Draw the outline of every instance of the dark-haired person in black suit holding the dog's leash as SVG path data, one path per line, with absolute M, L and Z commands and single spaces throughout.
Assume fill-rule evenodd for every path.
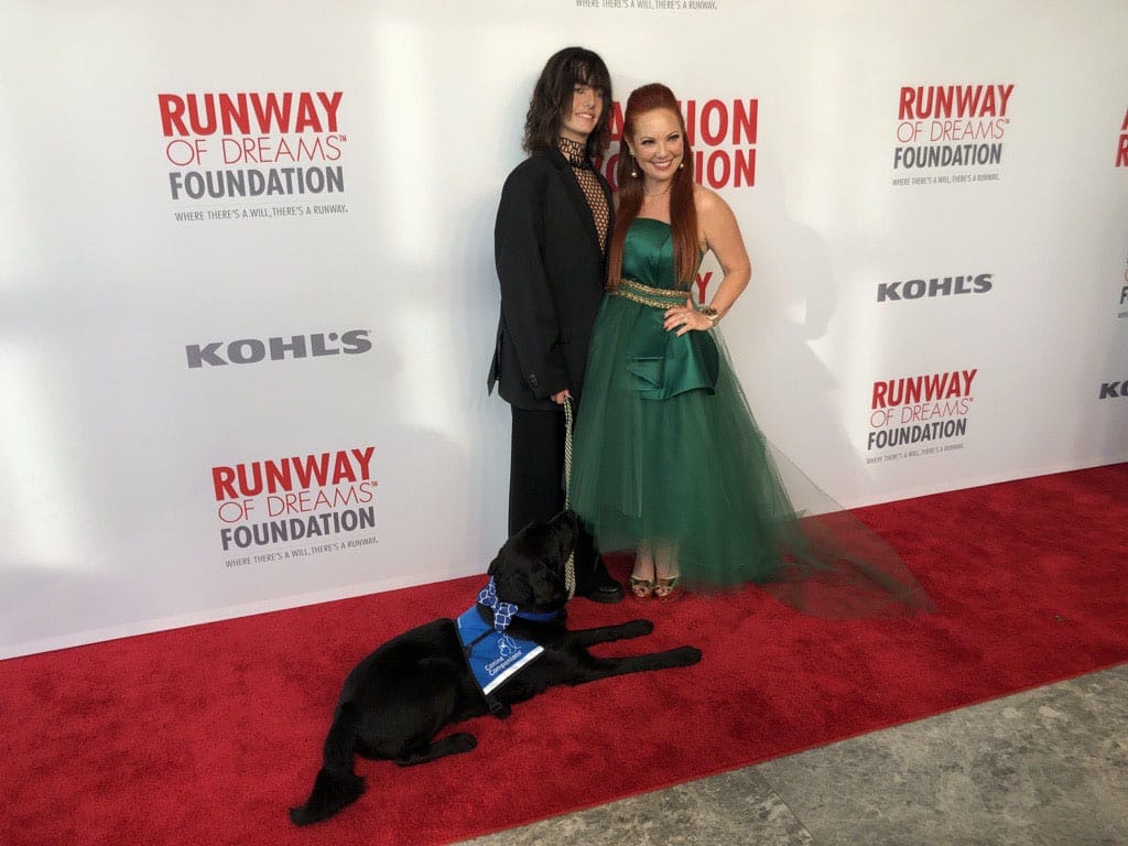
M 529 157 L 505 179 L 494 227 L 501 319 L 487 389 L 512 411 L 509 531 L 564 506 L 563 406 L 579 406 L 588 341 L 603 297 L 614 209 L 592 159 L 610 140 L 611 79 L 583 47 L 553 55 L 525 123 Z M 617 602 L 591 536 L 575 553 L 576 594 Z

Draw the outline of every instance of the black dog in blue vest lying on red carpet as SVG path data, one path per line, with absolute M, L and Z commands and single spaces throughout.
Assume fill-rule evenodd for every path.
M 654 625 L 637 619 L 569 631 L 564 566 L 576 532 L 571 511 L 549 522 L 530 523 L 499 550 L 490 564 L 491 583 L 467 614 L 457 622 L 437 619 L 405 632 L 356 664 L 341 691 L 312 793 L 306 804 L 290 809 L 296 825 L 332 817 L 364 792 L 363 779 L 353 773 L 354 755 L 409 766 L 468 752 L 477 744 L 473 734 L 460 732 L 439 741 L 435 734 L 444 725 L 491 711 L 506 717 L 511 705 L 555 685 L 688 667 L 700 660 L 700 651 L 693 646 L 628 658 L 596 658 L 588 652 L 597 643 L 650 634 Z M 487 682 L 482 684 L 470 656 L 479 642 L 491 641 L 499 653 L 478 659 L 477 671 L 486 668 Z M 499 668 L 509 671 L 514 666 L 520 669 L 500 686 L 488 681 Z

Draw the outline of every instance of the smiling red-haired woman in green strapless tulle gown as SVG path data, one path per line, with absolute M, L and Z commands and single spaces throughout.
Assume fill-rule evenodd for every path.
M 570 497 L 602 552 L 634 550 L 635 599 L 756 582 L 819 616 L 928 607 L 896 553 L 841 509 L 800 519 L 715 325 L 748 287 L 735 217 L 695 184 L 669 88 L 631 94 Z M 695 308 L 705 252 L 723 276 Z M 783 459 L 785 460 L 785 459 Z

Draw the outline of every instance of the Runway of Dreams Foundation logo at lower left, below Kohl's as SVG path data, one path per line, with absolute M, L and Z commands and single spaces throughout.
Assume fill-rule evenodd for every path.
M 229 567 L 374 544 L 374 447 L 211 468 L 219 544 Z M 353 535 L 341 539 L 338 536 Z

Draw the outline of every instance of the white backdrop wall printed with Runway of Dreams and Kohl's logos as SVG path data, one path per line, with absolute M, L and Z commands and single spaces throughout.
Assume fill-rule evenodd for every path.
M 1125 3 L 0 15 L 0 656 L 484 570 L 493 217 L 569 44 L 682 98 L 739 373 L 844 504 L 1128 459 Z

